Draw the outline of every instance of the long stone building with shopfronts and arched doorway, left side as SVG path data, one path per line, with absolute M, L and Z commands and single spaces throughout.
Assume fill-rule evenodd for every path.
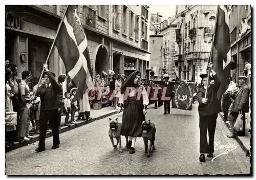
M 58 25 L 67 6 L 6 6 L 6 59 L 18 66 L 19 76 L 31 71 L 32 83 L 42 71 Z M 79 5 L 78 14 L 88 39 L 93 72 L 115 71 L 116 75 L 139 70 L 145 77 L 149 66 L 148 6 Z M 125 67 L 127 63 L 134 67 Z M 66 74 L 56 47 L 49 58 L 49 69 Z

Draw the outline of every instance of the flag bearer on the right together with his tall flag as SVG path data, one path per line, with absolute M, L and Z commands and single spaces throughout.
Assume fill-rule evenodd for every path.
M 216 119 L 218 113 L 221 111 L 220 100 L 229 84 L 231 61 L 229 36 L 228 8 L 227 6 L 218 5 L 213 38 L 214 42 L 211 46 L 207 68 L 208 74 L 200 76 L 203 80 L 204 87 L 198 92 L 198 111 L 200 117 L 199 160 L 201 162 L 205 161 L 205 153 L 208 153 L 208 158 L 212 158 L 214 153 Z M 209 76 L 210 71 L 213 75 L 212 77 Z M 209 134 L 209 143 L 207 143 L 207 130 Z

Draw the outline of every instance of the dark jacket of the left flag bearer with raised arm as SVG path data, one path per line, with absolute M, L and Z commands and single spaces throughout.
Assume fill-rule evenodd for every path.
M 54 110 L 59 108 L 59 96 L 62 92 L 61 85 L 54 79 L 50 71 L 46 72 L 51 86 L 46 88 L 45 85 L 38 87 L 36 96 L 40 96 L 41 110 Z

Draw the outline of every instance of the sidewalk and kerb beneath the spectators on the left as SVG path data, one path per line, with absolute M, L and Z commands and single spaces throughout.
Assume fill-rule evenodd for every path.
M 112 116 L 116 113 L 117 113 L 117 109 L 115 109 L 115 107 L 103 107 L 102 109 L 91 109 L 91 115 L 90 115 L 90 117 L 92 118 L 91 121 L 77 120 L 78 124 L 72 124 L 71 127 L 63 126 L 64 123 L 65 123 L 66 116 L 62 116 L 61 117 L 62 127 L 61 127 L 61 129 L 59 129 L 59 133 L 75 129 L 76 127 L 80 127 L 82 125 L 91 123 L 93 121 L 100 120 L 100 119 L 106 118 L 108 116 Z M 75 119 L 77 119 L 77 117 L 78 117 L 78 112 L 75 114 Z M 71 117 L 69 118 L 69 122 L 70 122 L 70 120 L 71 120 Z M 30 123 L 30 130 L 31 129 L 32 129 L 32 124 Z M 46 132 L 46 138 L 49 138 L 51 136 L 52 136 L 52 132 Z M 30 141 L 15 142 L 8 149 L 6 149 L 6 151 L 14 150 L 14 149 L 17 149 L 19 147 L 23 147 L 23 146 L 35 143 L 37 141 L 39 141 L 39 134 L 34 133 L 33 134 L 33 139 L 31 139 Z

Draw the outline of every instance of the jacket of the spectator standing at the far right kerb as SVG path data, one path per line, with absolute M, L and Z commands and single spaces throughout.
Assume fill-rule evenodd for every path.
M 233 111 L 238 113 L 239 110 L 242 113 L 249 112 L 249 94 L 250 88 L 247 84 L 243 84 L 234 99 Z

